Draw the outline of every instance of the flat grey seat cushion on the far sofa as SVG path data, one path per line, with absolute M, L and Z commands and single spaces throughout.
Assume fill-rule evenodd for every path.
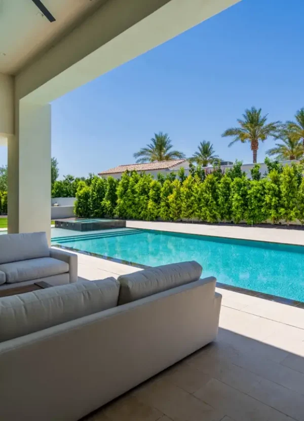
M 12 284 L 24 280 L 44 278 L 68 272 L 68 263 L 52 257 L 21 260 L 19 262 L 0 265 L 0 270 L 6 274 L 6 282 Z

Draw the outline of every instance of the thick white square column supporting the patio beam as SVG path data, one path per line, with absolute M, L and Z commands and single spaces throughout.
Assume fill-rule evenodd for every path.
M 8 143 L 8 229 L 46 231 L 50 240 L 51 106 L 18 102 Z

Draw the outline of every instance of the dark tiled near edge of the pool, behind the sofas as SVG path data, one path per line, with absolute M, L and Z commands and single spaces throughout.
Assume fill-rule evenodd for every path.
M 101 255 L 101 254 L 98 254 L 98 253 L 92 253 L 92 252 L 86 252 L 84 250 L 73 249 L 72 247 L 66 247 L 65 245 L 61 245 L 61 244 L 53 244 L 52 247 L 57 247 L 59 249 L 68 250 L 70 252 L 80 253 L 80 254 L 84 254 L 84 255 L 87 255 L 87 256 L 97 257 L 99 259 L 108 260 L 108 261 L 111 261 L 111 262 L 120 263 L 120 264 L 127 265 L 127 266 L 137 267 L 139 269 L 149 269 L 150 267 L 152 267 L 152 266 L 142 265 L 140 263 L 129 262 L 128 260 L 118 259 L 116 257 L 104 256 L 104 255 Z M 291 307 L 297 307 L 297 308 L 304 309 L 304 302 L 303 301 L 297 301 L 297 300 L 292 300 L 291 298 L 284 298 L 284 297 L 280 297 L 280 296 L 276 296 L 276 295 L 266 294 L 266 293 L 263 293 L 263 292 L 248 290 L 246 288 L 235 287 L 233 285 L 223 284 L 223 283 L 217 282 L 217 281 L 216 281 L 216 287 L 221 288 L 223 290 L 229 290 L 229 291 L 237 292 L 237 293 L 240 293 L 240 294 L 250 295 L 250 296 L 255 297 L 255 298 L 262 298 L 263 300 L 273 301 L 273 302 L 277 302 L 277 303 L 280 303 L 280 304 L 286 304 L 286 305 L 289 305 Z

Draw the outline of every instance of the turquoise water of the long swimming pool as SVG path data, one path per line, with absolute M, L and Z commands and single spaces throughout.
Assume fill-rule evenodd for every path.
M 136 229 L 53 242 L 147 266 L 196 260 L 223 284 L 304 301 L 301 246 Z

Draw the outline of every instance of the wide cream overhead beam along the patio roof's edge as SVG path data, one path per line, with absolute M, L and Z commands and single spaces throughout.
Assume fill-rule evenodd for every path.
M 239 1 L 109 0 L 17 75 L 17 97 L 53 101 Z

